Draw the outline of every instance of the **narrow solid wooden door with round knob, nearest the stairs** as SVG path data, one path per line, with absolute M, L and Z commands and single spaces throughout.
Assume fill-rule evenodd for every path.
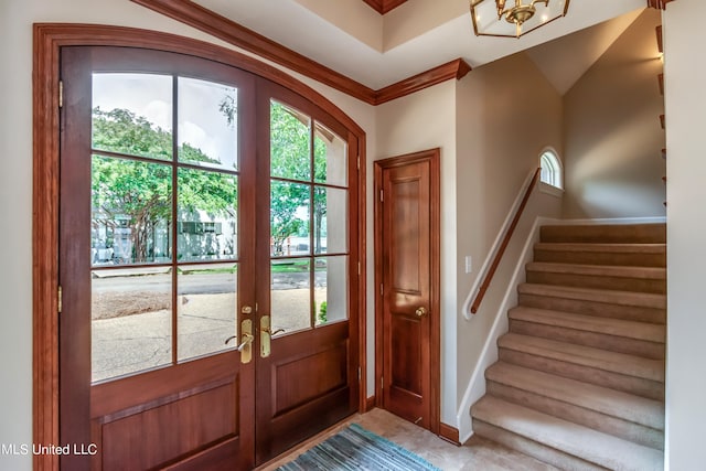
M 439 431 L 439 152 L 376 163 L 382 407 Z

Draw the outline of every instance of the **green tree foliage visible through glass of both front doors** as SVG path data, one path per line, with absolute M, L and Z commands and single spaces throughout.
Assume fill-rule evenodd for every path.
M 229 98 L 229 99 L 228 99 Z M 236 109 L 232 97 L 218 106 L 235 122 Z M 312 182 L 325 181 L 327 146 L 315 136 L 313 169 L 311 161 L 311 121 L 278 103 L 270 107 L 270 227 L 277 250 L 293 235 L 309 235 L 313 216 L 314 253 L 321 251 L 322 222 L 327 212 L 325 189 Z M 160 224 L 169 224 L 172 211 L 173 135 L 142 116 L 127 109 L 93 110 L 93 147 L 95 149 L 156 159 L 153 162 L 132 161 L 96 156 L 93 159 L 93 207 L 100 214 L 101 224 L 116 224 L 127 218 L 131 227 L 132 257 L 147 261 L 151 234 Z M 176 149 L 180 161 L 217 163 L 201 149 L 183 143 Z M 312 179 L 312 171 L 314 172 Z M 293 182 L 292 182 L 293 181 Z M 301 183 L 295 183 L 301 182 Z M 180 169 L 176 175 L 179 216 L 196 210 L 211 217 L 229 214 L 237 207 L 235 176 L 213 171 Z M 312 201 L 313 200 L 313 201 Z M 302 217 L 302 210 L 308 216 Z M 96 222 L 94 222 L 96 224 Z

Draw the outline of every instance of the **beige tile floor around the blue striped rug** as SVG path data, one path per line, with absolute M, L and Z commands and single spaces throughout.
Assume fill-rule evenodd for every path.
M 556 470 L 556 468 L 481 437 L 472 437 L 466 445 L 457 447 L 386 410 L 373 409 L 364 415 L 356 414 L 347 420 L 331 427 L 289 453 L 282 454 L 258 468 L 258 471 L 271 471 L 293 460 L 309 448 L 335 435 L 352 422 L 360 424 L 367 430 L 405 447 L 445 471 Z

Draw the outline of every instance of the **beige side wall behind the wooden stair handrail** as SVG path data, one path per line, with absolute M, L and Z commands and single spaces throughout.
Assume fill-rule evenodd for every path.
M 531 93 L 527 93 L 531 90 Z M 463 300 L 542 150 L 561 142 L 561 97 L 524 54 L 475 68 L 457 90 L 458 288 Z M 547 207 L 558 216 L 558 206 Z M 517 240 L 517 238 L 515 238 Z M 473 271 L 464 272 L 470 255 Z M 513 256 L 514 255 L 514 256 Z M 517 251 L 504 257 L 488 297 L 471 321 L 459 317 L 458 397 L 462 397 L 479 361 L 496 307 L 505 291 L 503 279 L 514 268 Z M 459 308 L 461 302 L 459 302 Z M 466 410 L 461 410 L 466 414 Z

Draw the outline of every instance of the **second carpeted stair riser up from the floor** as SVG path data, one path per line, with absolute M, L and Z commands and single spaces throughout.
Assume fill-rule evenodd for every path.
M 609 416 L 579 405 L 564 403 L 493 381 L 488 382 L 486 394 L 605 433 L 644 445 L 645 447 L 659 450 L 664 449 L 664 433 L 661 430 L 635 424 L 621 417 Z

